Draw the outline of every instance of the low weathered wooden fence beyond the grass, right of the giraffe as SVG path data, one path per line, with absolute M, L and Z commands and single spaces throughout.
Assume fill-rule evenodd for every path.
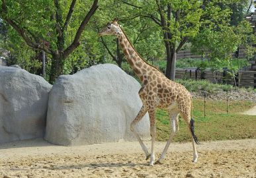
M 253 87 L 256 88 L 256 71 L 239 71 L 237 75 L 235 75 L 235 81 L 228 71 L 224 69 L 222 72 L 214 73 L 210 69 L 206 69 L 205 71 L 200 71 L 196 68 L 190 69 L 176 69 L 175 78 L 178 79 L 194 79 L 194 80 L 208 80 L 213 83 L 218 84 L 232 84 L 243 87 Z

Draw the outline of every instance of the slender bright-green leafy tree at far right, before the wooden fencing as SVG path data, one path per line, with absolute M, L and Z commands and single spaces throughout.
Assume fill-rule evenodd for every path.
M 247 48 L 248 55 L 253 53 L 250 45 L 255 42 L 255 36 L 250 24 L 244 19 L 248 6 L 251 5 L 246 1 L 218 3 L 218 9 L 226 11 L 226 20 L 216 24 L 206 21 L 200 27 L 198 36 L 191 39 L 192 51 L 209 58 L 212 73 L 222 71 L 224 64 L 234 78 L 234 83 L 239 66 L 232 65 L 232 53 L 240 45 Z

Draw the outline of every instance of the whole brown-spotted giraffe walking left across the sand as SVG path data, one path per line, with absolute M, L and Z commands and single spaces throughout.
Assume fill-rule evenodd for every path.
M 135 134 L 138 142 L 140 142 L 142 150 L 146 154 L 146 160 L 150 158 L 149 165 L 161 163 L 163 158 L 165 158 L 169 144 L 179 129 L 179 114 L 183 117 L 185 123 L 187 123 L 189 132 L 191 133 L 193 162 L 196 162 L 198 154 L 196 152 L 195 143 L 198 144 L 198 140 L 194 134 L 194 120 L 191 117 L 192 97 L 190 92 L 183 85 L 169 80 L 163 73 L 161 73 L 161 71 L 144 61 L 134 49 L 122 28 L 118 25 L 116 18 L 112 22 L 108 22 L 105 28 L 99 32 L 99 36 L 105 35 L 114 35 L 118 38 L 118 42 L 128 63 L 132 67 L 134 73 L 142 81 L 142 88 L 140 88 L 138 92 L 140 99 L 142 100 L 142 108 L 136 118 L 132 121 L 130 129 Z M 157 107 L 167 108 L 170 116 L 171 133 L 160 158 L 155 162 L 155 110 Z M 136 124 L 147 112 L 149 113 L 150 122 L 151 154 L 149 154 L 148 148 L 146 148 L 135 129 Z

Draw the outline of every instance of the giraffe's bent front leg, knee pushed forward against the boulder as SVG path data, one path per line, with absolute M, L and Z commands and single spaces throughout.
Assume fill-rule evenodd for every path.
M 146 107 L 144 105 L 142 105 L 142 108 L 140 109 L 138 115 L 136 116 L 134 121 L 132 121 L 132 123 L 130 125 L 130 129 L 131 129 L 132 133 L 135 134 L 138 142 L 140 142 L 140 146 L 142 146 L 142 150 L 146 154 L 146 160 L 148 160 L 150 154 L 148 153 L 148 148 L 145 146 L 144 142 L 142 142 L 142 139 L 140 138 L 138 132 L 136 131 L 135 126 L 142 119 L 142 117 L 147 113 L 147 111 L 148 111 L 148 109 L 146 109 Z

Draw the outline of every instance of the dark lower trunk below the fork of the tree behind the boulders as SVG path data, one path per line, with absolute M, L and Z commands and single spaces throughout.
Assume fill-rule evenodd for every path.
M 58 76 L 63 73 L 64 69 L 64 56 L 52 55 L 52 66 L 50 72 L 50 84 L 53 84 Z

